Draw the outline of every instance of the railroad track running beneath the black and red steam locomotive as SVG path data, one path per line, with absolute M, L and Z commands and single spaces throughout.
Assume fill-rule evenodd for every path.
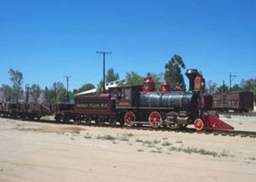
M 19 120 L 19 119 L 18 119 Z M 28 121 L 29 122 L 29 121 Z M 56 122 L 54 120 L 34 120 L 31 122 L 38 122 L 38 123 L 47 123 L 47 124 L 69 124 L 72 125 L 74 123 L 63 123 L 63 122 Z M 108 124 L 105 125 L 98 125 L 98 124 L 79 124 L 82 126 L 88 126 L 92 128 L 112 128 L 112 129 L 125 129 L 125 130 L 144 130 L 144 131 L 161 131 L 161 132 L 170 132 L 170 133 L 187 133 L 187 134 L 212 134 L 213 136 L 222 135 L 222 136 L 240 136 L 240 137 L 248 137 L 248 138 L 256 138 L 256 132 L 253 131 L 242 131 L 242 130 L 222 130 L 222 129 L 215 129 L 215 130 L 202 130 L 197 131 L 197 129 L 190 129 L 190 128 L 184 128 L 184 129 L 170 129 L 167 127 L 161 127 L 159 129 L 153 129 L 151 126 L 121 126 L 120 124 L 117 124 L 115 126 L 111 126 Z

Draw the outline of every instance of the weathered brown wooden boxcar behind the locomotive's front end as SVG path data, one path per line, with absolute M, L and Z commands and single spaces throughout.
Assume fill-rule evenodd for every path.
M 202 108 L 222 112 L 233 110 L 236 113 L 248 113 L 249 110 L 253 110 L 253 93 L 230 92 L 205 95 L 202 97 Z

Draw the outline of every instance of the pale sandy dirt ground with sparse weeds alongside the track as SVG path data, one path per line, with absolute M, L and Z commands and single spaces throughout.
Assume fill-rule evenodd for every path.
M 256 181 L 255 138 L 0 119 L 0 144 L 1 182 Z

